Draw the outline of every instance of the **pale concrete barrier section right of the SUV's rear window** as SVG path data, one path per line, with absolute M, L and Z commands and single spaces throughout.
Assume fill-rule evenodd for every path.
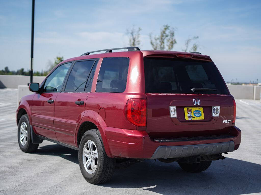
M 228 89 L 235 99 L 251 99 L 254 97 L 253 85 L 232 85 L 228 84 Z

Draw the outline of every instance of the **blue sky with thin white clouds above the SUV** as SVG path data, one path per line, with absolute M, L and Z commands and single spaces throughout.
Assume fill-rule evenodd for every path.
M 0 7 L 0 69 L 29 69 L 32 1 L 2 0 Z M 133 25 L 142 29 L 140 49 L 151 50 L 149 34 L 168 24 L 175 29 L 173 50 L 199 36 L 198 51 L 211 57 L 225 81 L 260 82 L 260 8 L 261 1 L 237 0 L 35 0 L 33 69 L 47 69 L 57 55 L 128 47 Z

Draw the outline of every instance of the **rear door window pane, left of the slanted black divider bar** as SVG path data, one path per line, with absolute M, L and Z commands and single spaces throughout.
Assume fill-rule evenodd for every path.
M 94 60 L 75 62 L 68 77 L 65 91 L 84 91 Z

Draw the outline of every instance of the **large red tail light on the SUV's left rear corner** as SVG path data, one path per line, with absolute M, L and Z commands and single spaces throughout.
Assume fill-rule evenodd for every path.
M 129 99 L 126 105 L 126 118 L 136 126 L 145 127 L 147 118 L 146 99 Z

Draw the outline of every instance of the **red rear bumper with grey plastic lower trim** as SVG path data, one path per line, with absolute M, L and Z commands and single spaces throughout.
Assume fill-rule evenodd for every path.
M 218 154 L 238 149 L 241 131 L 233 126 L 229 138 L 157 142 L 146 131 L 98 126 L 105 135 L 104 145 L 109 157 L 122 158 L 178 158 L 194 155 Z

